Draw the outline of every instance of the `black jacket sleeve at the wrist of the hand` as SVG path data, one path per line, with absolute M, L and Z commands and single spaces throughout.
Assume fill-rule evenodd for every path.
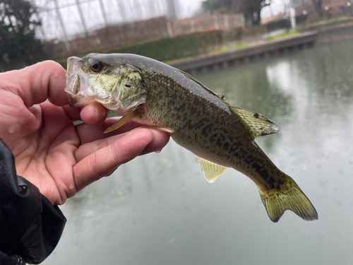
M 40 264 L 52 253 L 66 218 L 35 185 L 16 175 L 0 139 L 0 264 Z

